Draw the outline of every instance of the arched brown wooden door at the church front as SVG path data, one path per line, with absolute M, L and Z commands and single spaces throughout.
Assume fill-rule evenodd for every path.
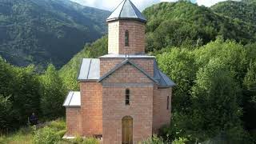
M 133 118 L 122 118 L 122 144 L 133 144 Z

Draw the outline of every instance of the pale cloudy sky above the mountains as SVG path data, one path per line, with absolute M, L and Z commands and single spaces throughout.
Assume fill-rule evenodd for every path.
M 78 2 L 84 6 L 91 6 L 91 7 L 97 7 L 99 9 L 103 10 L 114 10 L 116 6 L 122 0 L 71 0 L 74 2 Z M 175 2 L 177 0 L 131 0 L 135 6 L 138 7 L 139 10 L 144 10 L 147 6 L 151 6 L 154 3 L 158 2 Z M 204 6 L 212 6 L 217 2 L 222 2 L 226 0 L 190 0 L 191 2 L 197 2 L 198 5 L 204 5 Z

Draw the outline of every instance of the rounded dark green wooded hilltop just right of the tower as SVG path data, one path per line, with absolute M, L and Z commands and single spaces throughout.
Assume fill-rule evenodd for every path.
M 255 27 L 246 22 L 234 22 L 205 6 L 191 2 L 162 2 L 143 11 L 148 50 L 166 46 L 202 46 L 218 35 L 243 44 L 252 42 Z

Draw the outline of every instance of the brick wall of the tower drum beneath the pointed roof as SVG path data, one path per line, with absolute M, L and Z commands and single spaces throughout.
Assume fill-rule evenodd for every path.
M 145 24 L 137 21 L 120 20 L 109 22 L 109 54 L 144 54 Z M 129 31 L 129 46 L 125 46 L 125 32 Z

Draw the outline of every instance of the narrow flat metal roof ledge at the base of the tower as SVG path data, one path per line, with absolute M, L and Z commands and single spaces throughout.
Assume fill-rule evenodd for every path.
M 146 54 L 106 54 L 99 58 L 155 58 Z

